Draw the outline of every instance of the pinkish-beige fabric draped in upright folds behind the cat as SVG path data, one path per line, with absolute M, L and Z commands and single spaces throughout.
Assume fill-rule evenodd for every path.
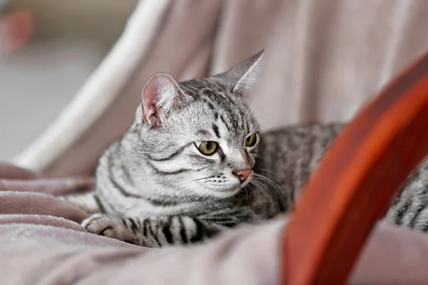
M 156 1 L 141 1 L 140 9 Z M 265 67 L 250 96 L 258 99 L 255 115 L 268 130 L 310 120 L 347 121 L 397 71 L 428 50 L 424 0 L 156 3 L 161 2 L 164 6 L 156 8 L 159 16 L 148 25 L 154 31 L 150 43 L 135 58 L 122 55 L 123 64 L 132 62 L 126 71 L 121 71 L 120 62 L 105 71 L 110 78 L 128 73 L 99 115 L 77 135 L 62 130 L 68 141 L 56 155 L 49 156 L 58 138 L 64 137 L 51 139 L 55 132 L 41 135 L 44 140 L 39 142 L 50 146 L 29 146 L 16 158 L 18 165 L 56 176 L 93 172 L 103 149 L 131 124 L 141 88 L 156 72 L 178 80 L 207 76 L 265 48 Z M 131 21 L 138 21 L 143 14 L 138 13 Z M 128 24 L 126 31 L 130 28 Z M 118 45 L 121 41 L 125 40 Z M 61 121 L 56 123 L 61 126 Z

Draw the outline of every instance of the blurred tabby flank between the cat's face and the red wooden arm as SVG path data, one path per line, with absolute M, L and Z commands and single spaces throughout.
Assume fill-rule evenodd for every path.
M 341 128 L 338 123 L 307 123 L 262 133 L 255 172 L 275 182 L 280 199 L 292 203 Z

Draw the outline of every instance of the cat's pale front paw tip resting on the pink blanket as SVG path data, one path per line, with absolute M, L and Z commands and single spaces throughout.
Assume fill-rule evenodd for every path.
M 98 234 L 123 242 L 132 242 L 132 232 L 118 217 L 108 217 L 105 214 L 93 214 L 82 222 L 82 227 L 92 234 Z

